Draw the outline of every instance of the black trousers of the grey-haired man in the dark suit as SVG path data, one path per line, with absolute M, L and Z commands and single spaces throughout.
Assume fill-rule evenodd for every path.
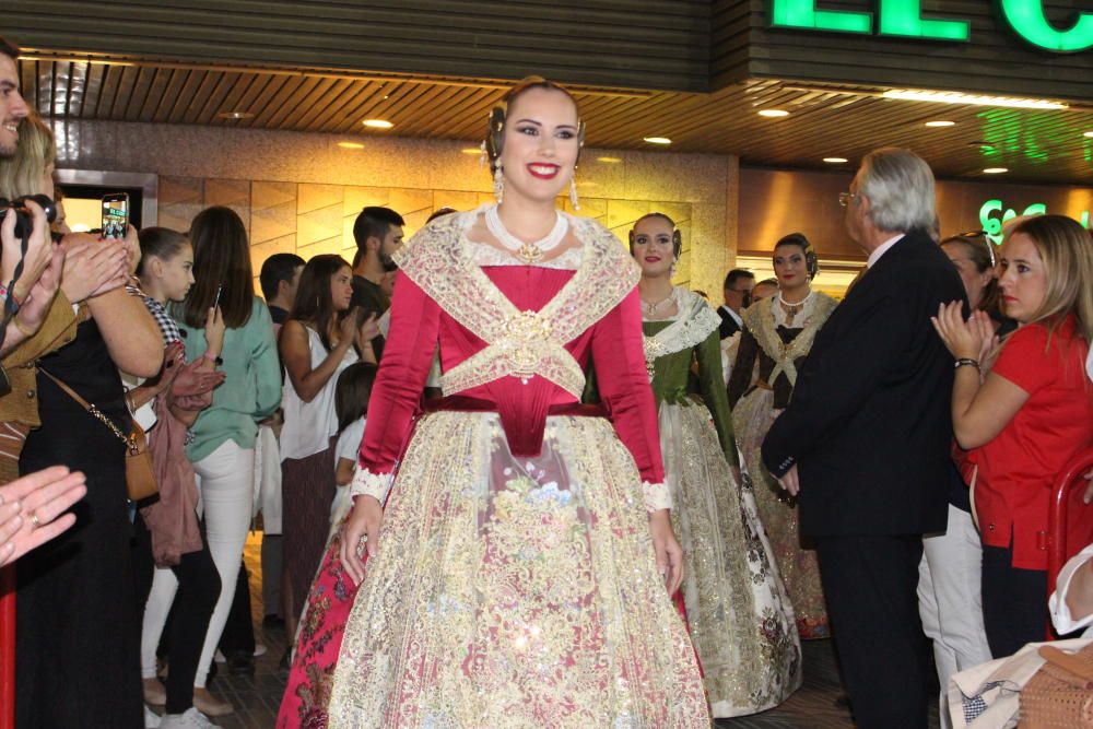
M 839 668 L 860 729 L 925 729 L 929 648 L 921 534 L 816 537 Z

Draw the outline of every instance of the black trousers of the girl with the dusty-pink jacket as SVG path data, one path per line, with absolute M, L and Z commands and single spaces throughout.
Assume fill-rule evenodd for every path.
M 141 622 L 144 603 L 152 590 L 152 534 L 144 520 L 137 515 L 133 525 L 133 561 L 140 562 L 136 568 L 137 598 Z M 178 579 L 178 591 L 171 609 L 166 625 L 167 644 L 171 646 L 171 670 L 167 672 L 167 714 L 183 714 L 193 705 L 193 679 L 201 660 L 209 619 L 220 598 L 220 573 L 209 554 L 201 533 L 201 551 L 184 554 L 178 564 L 171 568 Z

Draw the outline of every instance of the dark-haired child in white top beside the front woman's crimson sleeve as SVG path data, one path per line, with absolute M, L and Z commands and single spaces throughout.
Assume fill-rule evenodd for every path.
M 364 439 L 364 423 L 368 412 L 372 384 L 379 371 L 374 364 L 359 362 L 350 365 L 338 378 L 334 390 L 334 413 L 338 415 L 338 445 L 334 447 L 334 483 L 338 493 L 330 505 L 331 533 L 349 513 L 353 502 L 349 484 L 356 472 L 356 454 Z

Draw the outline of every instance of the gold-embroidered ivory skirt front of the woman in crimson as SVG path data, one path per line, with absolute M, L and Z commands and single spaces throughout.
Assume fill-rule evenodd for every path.
M 342 642 L 329 726 L 706 729 L 640 479 L 600 418 L 509 454 L 494 413 L 418 424 Z

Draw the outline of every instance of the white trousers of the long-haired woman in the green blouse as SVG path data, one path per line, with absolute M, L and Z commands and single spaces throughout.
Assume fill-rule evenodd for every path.
M 193 685 L 203 689 L 216 645 L 227 623 L 227 613 L 232 610 L 235 584 L 239 579 L 243 546 L 247 542 L 254 504 L 255 451 L 252 448 L 240 448 L 234 440 L 226 440 L 195 463 L 193 471 L 201 495 L 198 510 L 204 515 L 205 540 L 220 573 L 221 585 L 220 599 L 209 619 L 209 632 L 205 633 L 201 661 L 193 679 Z

